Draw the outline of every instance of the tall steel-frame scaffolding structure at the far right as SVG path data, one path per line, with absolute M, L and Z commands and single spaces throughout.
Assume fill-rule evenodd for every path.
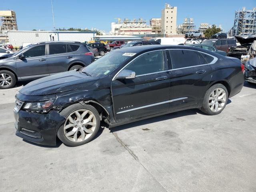
M 253 10 L 242 10 L 235 12 L 232 36 L 256 34 L 256 7 Z

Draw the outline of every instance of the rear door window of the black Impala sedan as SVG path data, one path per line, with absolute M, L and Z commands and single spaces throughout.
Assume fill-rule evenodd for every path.
M 198 52 L 190 50 L 170 50 L 172 68 L 185 68 L 200 65 Z

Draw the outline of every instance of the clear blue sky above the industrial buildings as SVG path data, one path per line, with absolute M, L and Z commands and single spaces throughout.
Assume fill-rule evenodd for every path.
M 110 31 L 114 18 L 161 18 L 164 4 L 177 6 L 177 25 L 185 17 L 200 23 L 221 25 L 228 32 L 235 10 L 252 10 L 256 0 L 52 0 L 56 28 L 98 28 Z M 188 2 L 188 3 L 186 3 Z M 191 3 L 192 2 L 192 3 Z M 207 3 L 209 2 L 209 3 Z M 212 2 L 212 3 L 210 3 Z M 16 12 L 18 30 L 53 30 L 51 0 L 0 0 L 0 10 Z

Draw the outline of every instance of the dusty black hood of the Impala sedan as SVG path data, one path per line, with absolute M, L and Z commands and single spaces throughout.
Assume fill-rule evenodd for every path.
M 40 78 L 24 86 L 20 93 L 29 96 L 55 94 L 70 90 L 84 90 L 99 77 L 87 76 L 78 71 L 68 71 Z

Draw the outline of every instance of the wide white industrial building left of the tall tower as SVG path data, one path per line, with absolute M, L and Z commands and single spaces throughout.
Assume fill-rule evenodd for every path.
M 125 18 L 118 19 L 118 22 L 111 23 L 112 35 L 135 35 L 135 34 L 149 34 L 152 32 L 152 28 L 146 24 L 146 20 L 142 18 L 130 20 Z

